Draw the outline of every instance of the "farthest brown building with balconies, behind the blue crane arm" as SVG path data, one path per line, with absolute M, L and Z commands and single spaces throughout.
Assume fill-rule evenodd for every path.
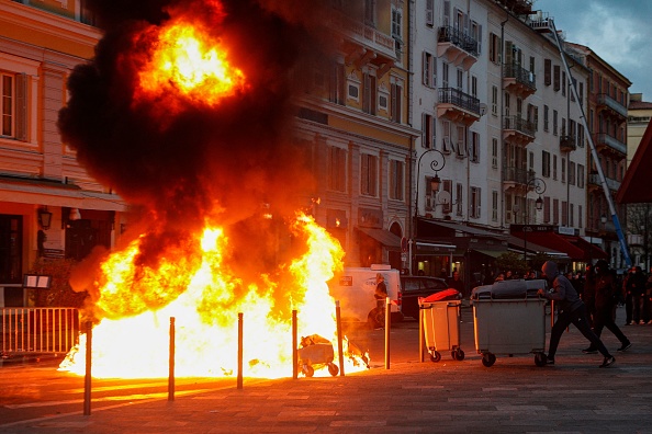
M 621 227 L 627 228 L 627 207 L 616 204 L 616 193 L 627 169 L 628 155 L 628 105 L 631 82 L 612 66 L 602 59 L 593 49 L 580 44 L 567 44 L 569 52 L 591 71 L 588 81 L 588 104 L 586 119 L 592 132 L 593 142 L 598 155 L 595 161 L 587 148 L 586 164 L 588 170 L 588 191 L 586 195 L 586 235 L 599 239 L 602 248 L 609 253 L 611 266 L 626 266 L 620 254 L 620 244 L 616 227 L 610 222 L 611 213 L 605 185 L 615 203 Z M 604 183 L 598 175 L 596 164 L 604 173 Z M 607 225 L 602 225 L 602 216 L 608 216 Z

